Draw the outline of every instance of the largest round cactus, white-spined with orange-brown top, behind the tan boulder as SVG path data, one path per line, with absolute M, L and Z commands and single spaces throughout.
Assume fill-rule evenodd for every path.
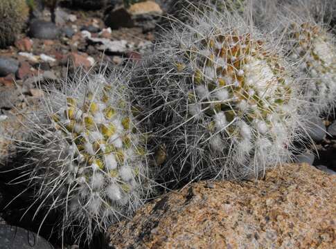
M 227 11 L 191 20 L 175 24 L 135 85 L 166 154 L 163 180 L 256 177 L 290 161 L 301 96 L 281 48 Z

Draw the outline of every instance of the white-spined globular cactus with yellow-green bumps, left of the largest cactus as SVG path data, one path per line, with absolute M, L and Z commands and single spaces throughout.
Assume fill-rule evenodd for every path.
M 132 115 L 128 76 L 75 77 L 46 89 L 23 143 L 39 208 L 63 214 L 62 230 L 89 241 L 130 216 L 150 192 L 146 136 Z

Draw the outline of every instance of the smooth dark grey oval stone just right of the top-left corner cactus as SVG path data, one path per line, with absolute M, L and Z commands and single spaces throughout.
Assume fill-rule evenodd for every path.
M 60 30 L 50 21 L 35 19 L 30 23 L 28 35 L 38 39 L 58 39 Z

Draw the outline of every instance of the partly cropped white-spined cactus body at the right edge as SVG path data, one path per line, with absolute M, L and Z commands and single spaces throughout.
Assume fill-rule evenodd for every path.
M 324 28 L 309 22 L 292 24 L 288 46 L 294 62 L 308 75 L 306 95 L 318 112 L 328 113 L 336 100 L 336 49 Z

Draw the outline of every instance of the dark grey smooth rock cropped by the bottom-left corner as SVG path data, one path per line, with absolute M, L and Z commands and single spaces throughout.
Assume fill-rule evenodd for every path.
M 34 232 L 12 225 L 0 225 L 2 249 L 52 249 L 51 243 Z

